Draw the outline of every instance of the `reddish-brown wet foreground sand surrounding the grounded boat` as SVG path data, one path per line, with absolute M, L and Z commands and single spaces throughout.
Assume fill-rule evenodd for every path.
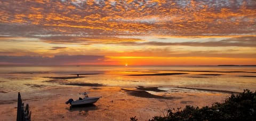
M 129 120 L 134 116 L 139 120 L 148 120 L 153 116 L 163 115 L 168 109 L 185 107 L 188 103 L 199 107 L 211 106 L 213 102 L 220 102 L 227 96 L 211 93 L 173 93 L 171 98 L 163 98 L 148 95 L 145 91 L 122 90 L 120 87 L 101 87 L 101 90 L 90 88 L 47 87 L 40 93 L 21 92 L 21 98 L 25 103 L 29 103 L 32 120 Z M 78 93 L 89 90 L 89 96 L 102 96 L 93 106 L 70 108 L 65 104 L 70 98 L 78 99 L 81 96 Z M 2 120 L 16 119 L 16 98 L 10 96 L 9 100 L 0 103 Z

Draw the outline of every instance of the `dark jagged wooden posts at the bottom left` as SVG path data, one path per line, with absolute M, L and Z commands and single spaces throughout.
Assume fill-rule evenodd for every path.
M 24 103 L 22 103 L 20 92 L 18 93 L 18 107 L 17 107 L 17 121 L 30 121 L 31 111 L 29 111 L 29 105 L 26 104 L 24 109 Z

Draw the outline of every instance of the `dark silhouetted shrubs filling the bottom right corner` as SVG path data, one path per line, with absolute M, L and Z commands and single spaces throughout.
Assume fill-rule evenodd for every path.
M 225 102 L 214 103 L 211 107 L 186 106 L 183 110 L 168 110 L 167 116 L 149 119 L 156 120 L 256 120 L 256 91 L 231 94 Z

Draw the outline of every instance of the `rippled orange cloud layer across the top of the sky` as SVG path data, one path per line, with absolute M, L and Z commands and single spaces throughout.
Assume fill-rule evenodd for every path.
M 254 35 L 253 5 L 250 1 L 2 1 L 0 20 L 92 35 Z

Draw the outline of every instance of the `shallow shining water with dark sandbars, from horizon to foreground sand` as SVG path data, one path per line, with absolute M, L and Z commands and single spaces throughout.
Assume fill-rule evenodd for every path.
M 82 78 L 75 78 L 76 74 Z M 256 67 L 250 66 L 0 66 L 0 94 L 40 91 L 47 86 L 159 87 L 166 94 L 255 91 L 255 74 Z

